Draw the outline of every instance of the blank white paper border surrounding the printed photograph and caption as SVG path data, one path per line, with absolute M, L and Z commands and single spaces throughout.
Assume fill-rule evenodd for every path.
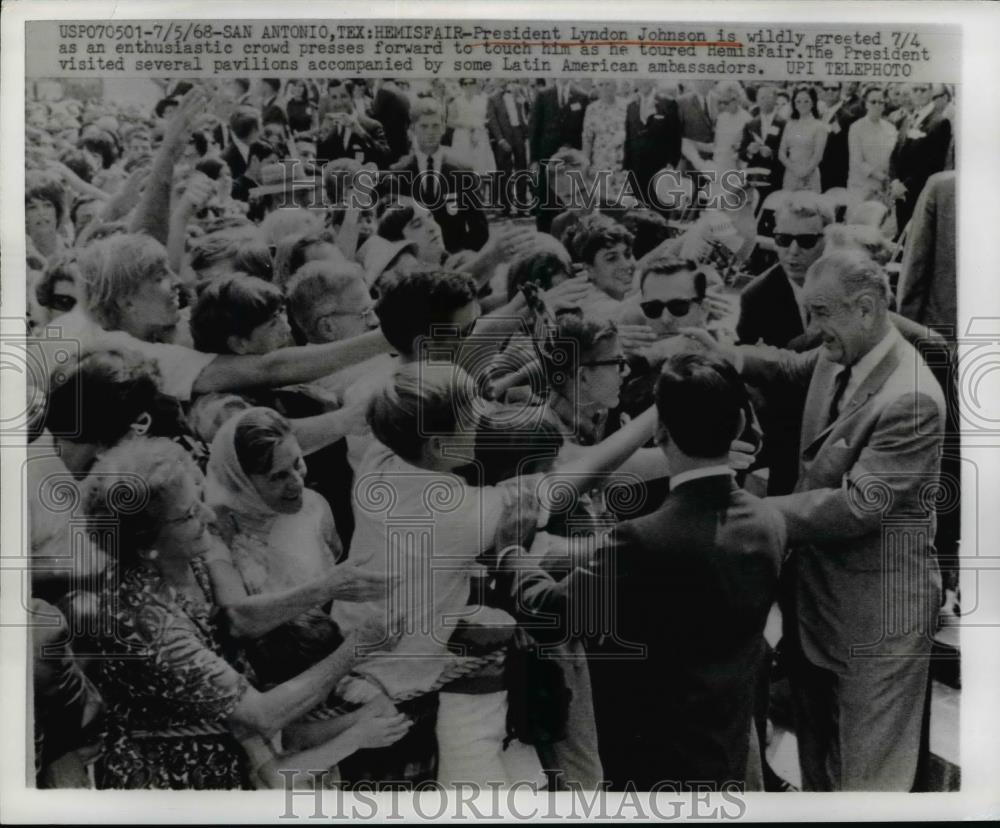
M 280 17 L 276 15 L 280 12 Z M 1000 365 L 1000 6 L 963 2 L 749 2 L 697 3 L 630 2 L 584 4 L 579 0 L 547 0 L 542 3 L 507 2 L 8 2 L 4 3 L 0 29 L 0 193 L 3 194 L 3 224 L 0 227 L 2 259 L 2 315 L 23 315 L 24 310 L 24 188 L 23 112 L 24 40 L 26 19 L 502 19 L 512 20 L 620 20 L 754 21 L 794 24 L 836 21 L 839 26 L 858 23 L 958 24 L 963 29 L 962 88 L 959 100 L 961 155 L 959 175 L 960 304 L 961 327 L 973 316 L 994 320 L 993 361 Z M 987 372 L 980 393 L 981 404 L 1000 422 L 1000 384 L 995 371 Z M 5 416 L 23 399 L 23 380 L 3 372 L 0 406 Z M 979 552 L 996 557 L 1000 540 L 1000 464 L 996 446 L 968 445 L 965 455 L 978 467 L 979 514 L 966 512 L 963 536 L 977 537 Z M 5 555 L 16 549 L 21 538 L 21 465 L 23 452 L 4 448 L 0 475 L 0 514 Z M 971 483 L 971 480 L 967 480 Z M 970 554 L 966 550 L 966 554 Z M 3 617 L 16 613 L 20 584 L 10 570 L 0 570 L 0 608 Z M 974 585 L 966 579 L 964 590 Z M 1000 570 L 980 579 L 979 597 L 984 619 L 991 626 L 962 630 L 962 792 L 960 794 L 827 794 L 749 795 L 746 818 L 788 819 L 996 819 L 1000 817 Z M 25 739 L 25 651 L 24 629 L 0 628 L 0 822 L 224 822 L 277 821 L 284 810 L 281 792 L 258 793 L 163 793 L 35 791 L 24 790 Z M 545 813 L 542 805 L 541 814 Z M 524 809 L 530 810 L 526 804 Z M 432 809 L 433 810 L 433 809 Z M 522 809 L 523 810 L 523 809 Z M 297 800 L 299 814 L 311 813 L 306 800 Z M 330 806 L 327 807 L 327 812 Z M 626 809 L 627 816 L 632 811 Z M 359 816 L 365 815 L 362 809 Z M 404 814 L 405 815 L 405 814 Z M 381 815 L 382 821 L 385 814 Z M 411 819 L 415 818 L 410 813 Z M 304 816 L 302 817 L 304 818 Z M 544 821 L 539 819 L 537 821 Z M 287 823 L 288 820 L 281 822 Z M 315 822 L 315 820 L 313 820 Z

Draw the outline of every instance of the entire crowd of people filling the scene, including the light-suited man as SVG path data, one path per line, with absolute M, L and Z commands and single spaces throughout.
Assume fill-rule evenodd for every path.
M 953 89 L 162 92 L 27 104 L 39 786 L 919 786 Z

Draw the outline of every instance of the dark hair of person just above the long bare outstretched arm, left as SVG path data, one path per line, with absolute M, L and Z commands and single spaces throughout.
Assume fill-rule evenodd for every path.
M 249 336 L 285 304 L 281 290 L 253 276 L 233 273 L 213 279 L 191 309 L 191 337 L 199 351 L 231 354 L 231 336 Z

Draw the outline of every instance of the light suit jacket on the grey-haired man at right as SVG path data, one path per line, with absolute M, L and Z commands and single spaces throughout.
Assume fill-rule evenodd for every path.
M 748 381 L 807 389 L 795 491 L 768 502 L 784 515 L 794 549 L 786 635 L 809 661 L 841 675 L 863 675 L 871 657 L 919 650 L 937 617 L 930 494 L 944 396 L 916 350 L 896 337 L 829 425 L 841 366 L 822 349 L 742 349 Z

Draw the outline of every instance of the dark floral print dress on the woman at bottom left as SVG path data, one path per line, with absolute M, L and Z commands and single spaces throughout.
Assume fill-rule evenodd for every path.
M 250 686 L 218 627 L 211 588 L 200 604 L 148 568 L 129 573 L 105 612 L 98 683 L 108 705 L 98 788 L 251 788 L 225 720 Z

